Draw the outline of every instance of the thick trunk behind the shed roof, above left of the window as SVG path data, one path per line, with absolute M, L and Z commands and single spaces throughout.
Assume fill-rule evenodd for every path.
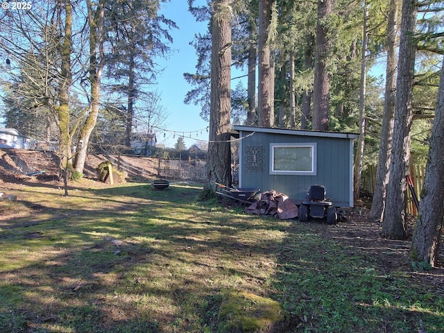
M 273 126 L 273 89 L 271 88 L 271 53 L 268 35 L 271 22 L 271 0 L 259 0 L 259 66 L 257 104 L 259 108 L 259 127 Z

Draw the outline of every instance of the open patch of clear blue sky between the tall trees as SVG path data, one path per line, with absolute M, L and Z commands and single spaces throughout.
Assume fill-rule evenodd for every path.
M 204 1 L 197 2 L 204 3 Z M 196 50 L 189 42 L 193 40 L 196 33 L 205 33 L 207 22 L 196 22 L 196 19 L 188 11 L 188 4 L 185 0 L 171 0 L 169 3 L 162 3 L 160 13 L 167 19 L 176 22 L 179 28 L 170 31 L 170 35 L 173 37 L 171 49 L 174 51 L 172 55 L 168 59 L 159 58 L 156 60 L 157 64 L 164 68 L 162 74 L 157 76 L 156 87 L 157 92 L 160 93 L 160 104 L 167 115 L 164 128 L 176 132 L 176 135 L 157 129 L 157 144 L 173 147 L 177 142 L 178 133 L 181 133 L 180 135 L 185 134 L 185 146 L 189 148 L 197 143 L 197 139 L 208 140 L 206 131 L 208 122 L 199 116 L 200 105 L 184 103 L 185 95 L 192 86 L 183 77 L 185 72 L 194 73 L 196 71 Z M 202 134 L 200 130 L 202 130 Z M 198 131 L 197 137 L 196 131 Z M 190 135 L 193 139 L 189 138 Z

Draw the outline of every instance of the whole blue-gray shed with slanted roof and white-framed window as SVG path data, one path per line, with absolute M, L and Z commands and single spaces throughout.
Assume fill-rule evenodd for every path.
M 324 185 L 336 207 L 353 207 L 356 133 L 234 126 L 239 187 L 287 194 L 296 205 L 311 185 Z

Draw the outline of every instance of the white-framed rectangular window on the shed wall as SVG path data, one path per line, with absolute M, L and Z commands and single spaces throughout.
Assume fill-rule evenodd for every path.
M 270 144 L 270 174 L 316 176 L 317 145 Z

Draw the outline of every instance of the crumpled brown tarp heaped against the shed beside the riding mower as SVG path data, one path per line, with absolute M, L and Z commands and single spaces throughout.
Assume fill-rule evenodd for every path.
M 289 200 L 289 196 L 274 189 L 263 192 L 261 200 L 246 207 L 245 212 L 258 215 L 277 215 L 280 219 L 293 219 L 299 214 L 298 206 Z

